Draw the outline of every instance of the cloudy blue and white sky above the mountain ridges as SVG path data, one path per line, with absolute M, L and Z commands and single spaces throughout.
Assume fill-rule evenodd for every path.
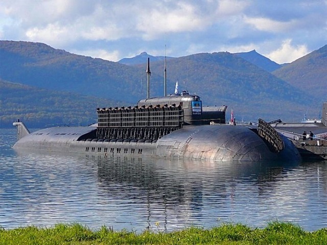
M 327 0 L 0 0 L 0 40 L 110 61 L 255 50 L 282 64 L 327 44 Z

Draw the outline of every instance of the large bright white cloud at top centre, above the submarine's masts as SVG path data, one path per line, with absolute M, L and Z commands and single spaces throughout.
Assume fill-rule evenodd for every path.
M 144 33 L 146 40 L 166 33 L 205 32 L 230 16 L 239 18 L 248 5 L 248 1 L 242 0 L 158 2 L 155 7 L 152 5 L 154 8 L 139 12 L 136 28 Z

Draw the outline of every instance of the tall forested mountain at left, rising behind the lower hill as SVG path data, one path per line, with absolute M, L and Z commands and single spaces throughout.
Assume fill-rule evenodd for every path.
M 0 57 L 5 81 L 130 102 L 139 93 L 139 70 L 117 62 L 22 41 L 0 41 Z

